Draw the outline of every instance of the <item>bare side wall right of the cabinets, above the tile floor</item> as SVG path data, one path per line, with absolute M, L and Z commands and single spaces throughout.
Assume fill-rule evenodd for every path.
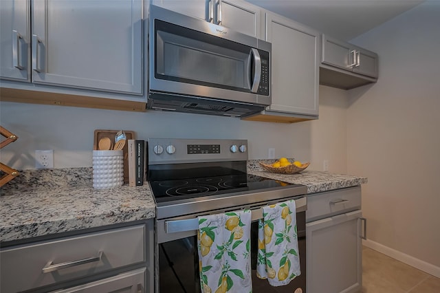
M 368 237 L 439 276 L 440 2 L 352 42 L 380 56 L 379 81 L 350 91 L 347 111 L 348 171 L 369 177 Z

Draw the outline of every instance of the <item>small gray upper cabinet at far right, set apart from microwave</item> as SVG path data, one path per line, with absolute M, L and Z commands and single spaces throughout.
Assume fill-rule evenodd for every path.
M 378 56 L 374 52 L 322 34 L 320 83 L 352 89 L 377 81 Z

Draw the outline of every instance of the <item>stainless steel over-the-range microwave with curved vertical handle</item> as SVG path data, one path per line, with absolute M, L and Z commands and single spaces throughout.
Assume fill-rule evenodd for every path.
M 271 104 L 272 45 L 151 6 L 150 109 L 243 116 Z

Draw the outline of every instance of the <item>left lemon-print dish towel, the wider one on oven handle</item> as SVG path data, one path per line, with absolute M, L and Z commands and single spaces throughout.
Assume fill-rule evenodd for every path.
M 252 292 L 250 210 L 198 219 L 201 292 Z

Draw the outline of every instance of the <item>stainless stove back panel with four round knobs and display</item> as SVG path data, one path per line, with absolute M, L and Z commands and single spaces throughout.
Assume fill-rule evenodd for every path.
M 148 164 L 248 160 L 248 140 L 148 139 Z

